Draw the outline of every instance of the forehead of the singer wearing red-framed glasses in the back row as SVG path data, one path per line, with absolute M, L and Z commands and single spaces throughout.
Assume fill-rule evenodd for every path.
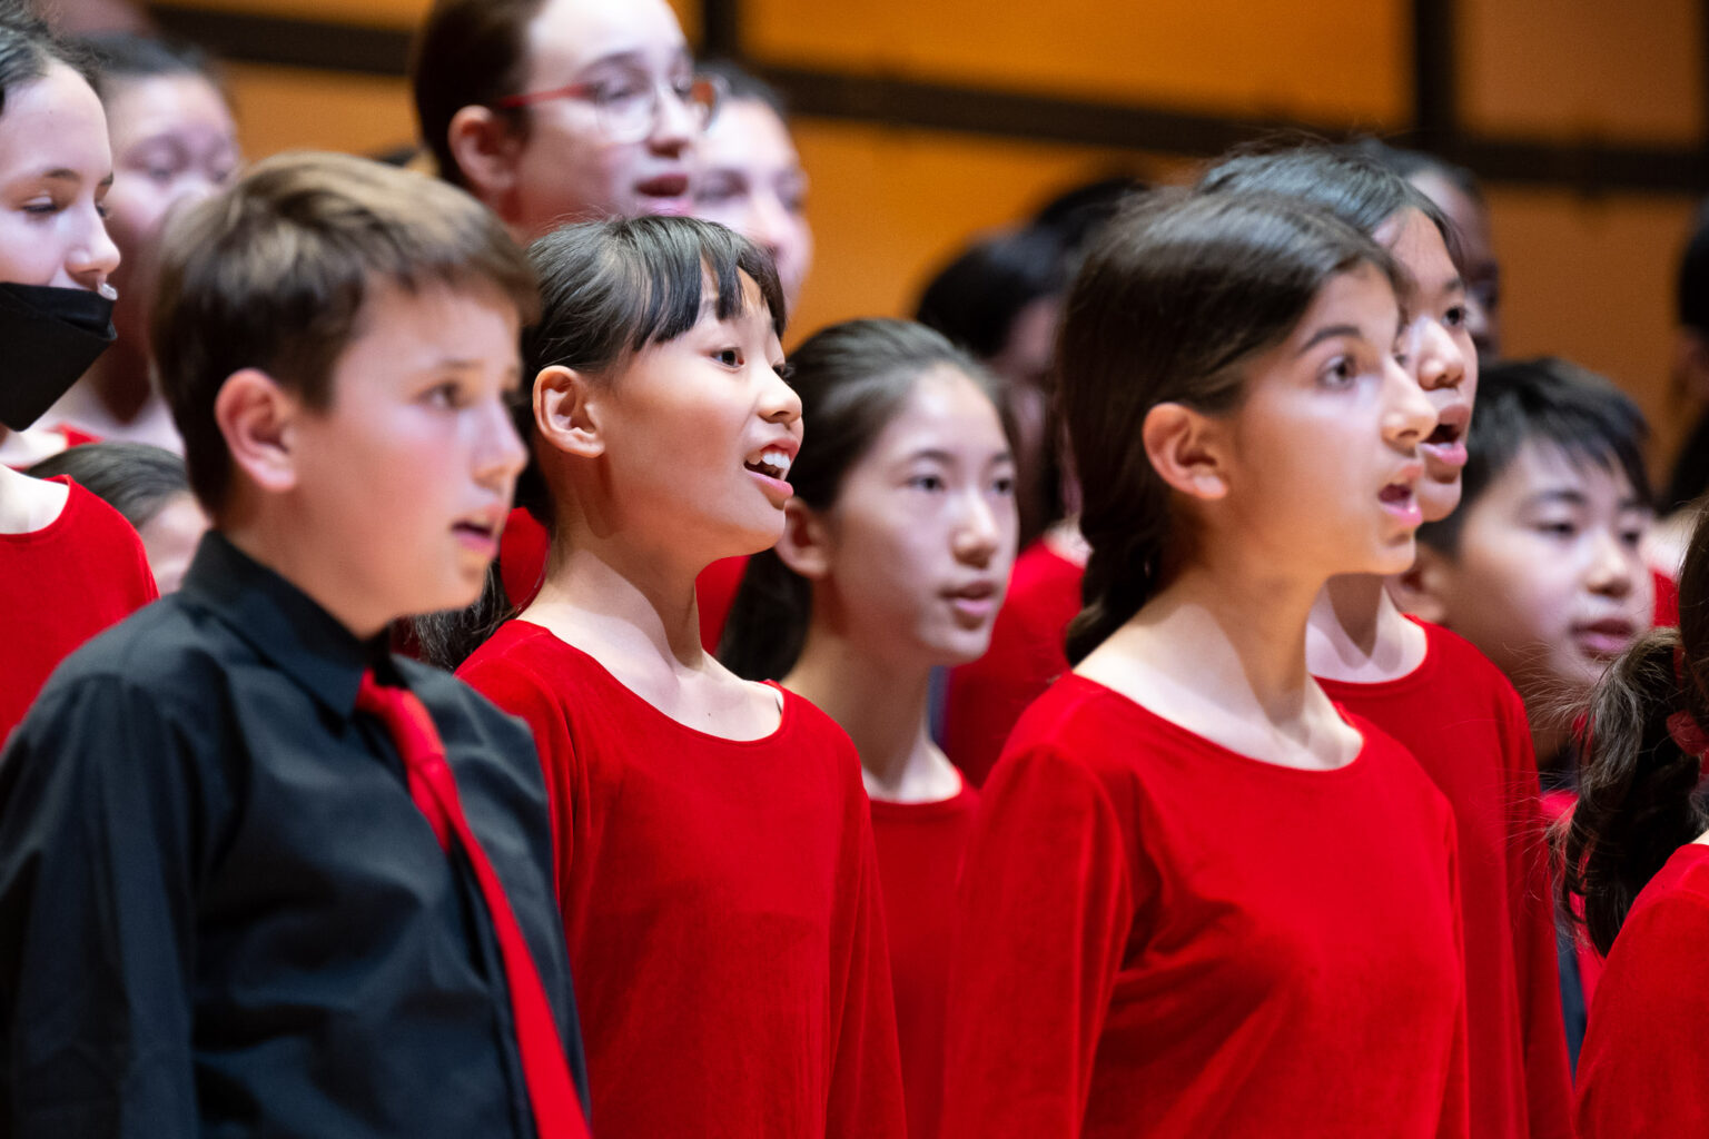
M 689 51 L 665 0 L 547 0 L 528 26 L 533 79 L 567 79 L 610 56 L 668 65 Z

